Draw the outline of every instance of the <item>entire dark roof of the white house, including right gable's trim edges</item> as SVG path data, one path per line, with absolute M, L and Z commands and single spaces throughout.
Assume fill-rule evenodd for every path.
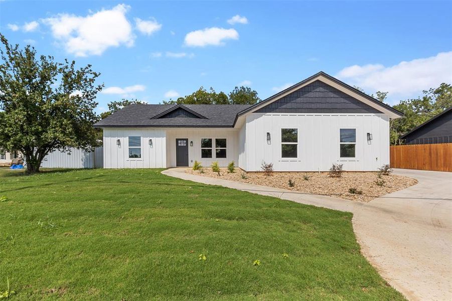
M 331 85 L 336 91 L 364 102 L 375 112 L 387 114 L 390 118 L 399 118 L 403 113 L 373 97 L 343 83 L 342 81 L 319 72 L 267 99 L 254 105 L 239 104 L 132 104 L 111 114 L 94 124 L 95 127 L 234 127 L 241 126 L 244 116 L 307 86 L 316 80 Z M 345 95 L 345 94 L 344 94 Z M 355 100 L 356 101 L 356 100 Z M 239 120 L 239 122 L 237 122 Z

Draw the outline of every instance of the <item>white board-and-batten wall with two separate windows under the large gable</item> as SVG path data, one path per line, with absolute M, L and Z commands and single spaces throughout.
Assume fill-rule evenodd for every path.
M 281 158 L 281 128 L 298 129 L 297 158 Z M 356 128 L 355 159 L 340 158 L 340 128 Z M 333 163 L 346 171 L 376 171 L 389 164 L 389 118 L 375 113 L 253 113 L 246 117 L 245 145 L 246 159 L 240 163 L 247 171 L 260 171 L 262 161 L 281 172 L 328 171 Z

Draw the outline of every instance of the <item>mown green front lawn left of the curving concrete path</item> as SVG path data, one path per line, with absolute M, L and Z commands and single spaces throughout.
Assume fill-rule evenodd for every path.
M 9 277 L 14 300 L 403 299 L 351 214 L 160 172 L 0 170 L 0 291 Z

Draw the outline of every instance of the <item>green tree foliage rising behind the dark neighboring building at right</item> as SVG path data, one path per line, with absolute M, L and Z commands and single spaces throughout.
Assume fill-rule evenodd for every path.
M 442 83 L 438 88 L 423 91 L 422 98 L 402 100 L 394 108 L 405 114 L 391 120 L 391 144 L 401 144 L 400 136 L 452 106 L 452 85 Z

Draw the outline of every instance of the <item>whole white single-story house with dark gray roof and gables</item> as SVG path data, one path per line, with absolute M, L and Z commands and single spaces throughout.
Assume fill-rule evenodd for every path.
M 402 113 L 319 72 L 255 105 L 129 105 L 103 128 L 104 168 L 375 171 L 389 164 L 389 120 Z

